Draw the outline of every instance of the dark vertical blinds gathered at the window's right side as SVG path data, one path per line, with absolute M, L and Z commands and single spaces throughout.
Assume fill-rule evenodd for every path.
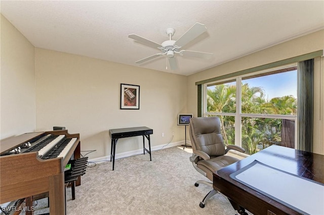
M 313 151 L 314 59 L 298 62 L 298 144 L 297 149 Z

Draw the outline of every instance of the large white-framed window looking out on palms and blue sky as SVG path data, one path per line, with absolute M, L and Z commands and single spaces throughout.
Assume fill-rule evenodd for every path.
M 224 144 L 253 154 L 272 144 L 295 148 L 297 65 L 204 85 L 204 116 L 218 116 Z

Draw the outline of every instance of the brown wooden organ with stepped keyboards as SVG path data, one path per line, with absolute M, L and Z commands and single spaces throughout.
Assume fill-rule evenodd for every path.
M 0 145 L 0 204 L 48 192 L 50 213 L 65 214 L 64 167 L 80 158 L 79 134 L 25 133 Z

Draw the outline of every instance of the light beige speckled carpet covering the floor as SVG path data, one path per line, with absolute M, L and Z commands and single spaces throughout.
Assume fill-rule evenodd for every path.
M 190 156 L 191 149 L 172 147 L 152 151 L 152 161 L 149 154 L 116 159 L 114 171 L 111 162 L 87 168 L 75 200 L 67 190 L 67 214 L 235 214 L 222 194 L 199 207 L 211 188 L 194 186 L 207 178 L 194 170 Z M 37 207 L 44 208 L 41 200 Z

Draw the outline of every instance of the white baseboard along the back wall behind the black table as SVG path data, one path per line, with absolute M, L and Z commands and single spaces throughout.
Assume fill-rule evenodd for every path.
M 157 145 L 157 146 L 151 147 L 151 151 L 164 149 L 164 148 L 171 148 L 171 147 L 174 147 L 174 146 L 184 145 L 184 144 L 185 144 L 185 141 L 183 140 L 183 141 L 173 142 L 173 143 L 169 143 L 169 144 Z M 187 140 L 187 144 L 190 145 L 189 140 Z M 133 151 L 126 151 L 126 152 L 121 152 L 121 153 L 115 154 L 115 159 L 123 158 L 123 157 L 129 157 L 129 156 L 132 156 L 132 155 L 135 155 L 135 154 L 143 154 L 143 148 L 133 150 Z M 88 159 L 89 162 L 96 162 L 96 163 L 106 162 L 106 161 L 109 161 L 109 160 L 110 160 L 110 154 L 107 155 L 107 156 Z

